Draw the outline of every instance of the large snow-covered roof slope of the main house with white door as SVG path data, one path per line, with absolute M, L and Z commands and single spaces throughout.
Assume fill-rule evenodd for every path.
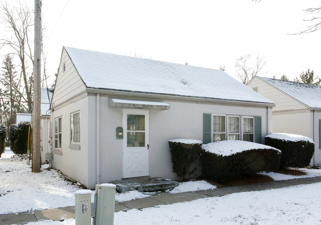
M 222 70 L 64 48 L 87 88 L 273 104 Z

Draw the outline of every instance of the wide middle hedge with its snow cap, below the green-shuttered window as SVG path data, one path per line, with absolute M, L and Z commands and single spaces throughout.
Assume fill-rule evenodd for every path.
M 201 153 L 203 176 L 223 183 L 278 169 L 280 160 L 276 148 L 238 140 L 204 144 Z

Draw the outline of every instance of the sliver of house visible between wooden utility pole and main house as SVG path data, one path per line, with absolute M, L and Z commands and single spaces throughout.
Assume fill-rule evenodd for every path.
M 40 109 L 41 109 L 41 119 L 40 119 L 40 151 L 41 151 L 41 163 L 46 161 L 46 153 L 51 153 L 49 141 L 50 133 L 50 103 L 52 98 L 52 93 L 54 89 L 51 88 L 41 88 L 40 90 Z

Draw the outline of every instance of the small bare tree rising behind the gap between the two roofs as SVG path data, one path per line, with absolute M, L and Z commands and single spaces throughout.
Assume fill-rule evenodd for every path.
M 265 71 L 266 65 L 265 56 L 260 56 L 260 53 L 258 53 L 255 61 L 251 60 L 250 54 L 244 54 L 243 56 L 236 58 L 234 67 L 237 77 L 243 84 L 247 84 L 252 77 L 266 74 L 268 72 Z

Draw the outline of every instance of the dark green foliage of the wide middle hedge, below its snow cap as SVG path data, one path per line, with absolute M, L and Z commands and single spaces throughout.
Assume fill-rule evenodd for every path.
M 205 150 L 201 153 L 202 173 L 218 182 L 241 179 L 279 168 L 281 153 L 275 149 L 251 149 L 228 156 Z

